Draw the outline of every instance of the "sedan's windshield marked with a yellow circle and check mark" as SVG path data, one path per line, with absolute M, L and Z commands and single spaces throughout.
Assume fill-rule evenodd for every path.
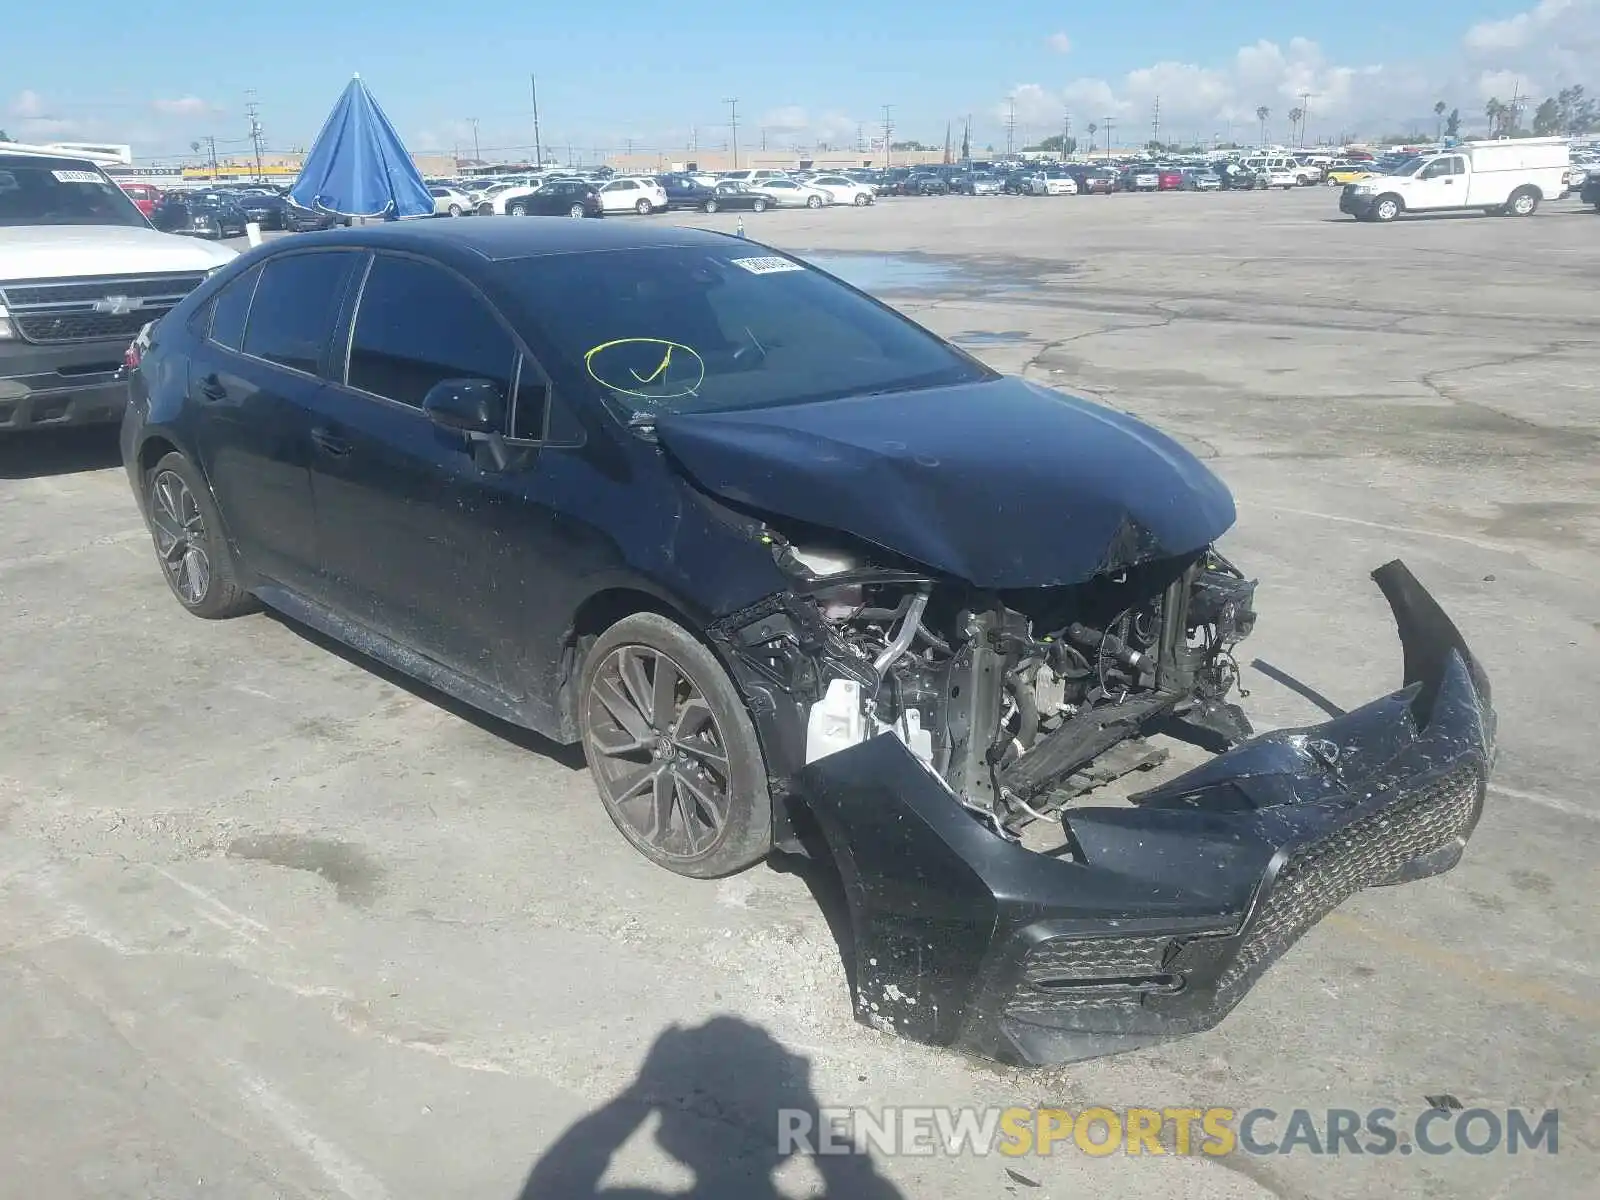
M 774 408 L 992 378 L 819 270 L 758 246 L 504 264 L 558 386 L 627 418 Z

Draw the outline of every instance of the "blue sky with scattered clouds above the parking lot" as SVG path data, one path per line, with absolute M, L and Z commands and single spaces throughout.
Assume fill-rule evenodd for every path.
M 1600 64 L 1600 0 L 1344 0 L 1294 11 L 1264 0 L 1114 6 L 1014 0 L 805 0 L 774 5 L 523 5 L 490 11 L 438 0 L 256 10 L 144 0 L 30 5 L 10 22 L 0 128 L 35 139 L 133 141 L 142 157 L 248 134 L 246 90 L 267 144 L 306 146 L 339 88 L 362 72 L 413 149 L 531 144 L 528 72 L 544 139 L 579 150 L 853 142 L 893 104 L 896 139 L 942 141 L 974 118 L 1003 141 L 1114 115 L 1147 128 L 1154 98 L 1170 133 L 1242 131 L 1266 104 L 1277 122 L 1315 94 L 1314 130 L 1384 131 L 1435 99 L 1482 110 L 1488 94 L 1586 82 Z M 1600 86 L 1600 69 L 1594 83 Z M 1506 96 L 1502 96 L 1506 98 Z M 1378 126 L 1382 126 L 1379 130 Z M 1147 136 L 1147 134 L 1146 134 Z

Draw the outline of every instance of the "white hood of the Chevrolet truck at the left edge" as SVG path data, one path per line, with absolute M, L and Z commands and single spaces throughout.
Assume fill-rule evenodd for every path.
M 147 226 L 0 227 L 0 280 L 210 270 L 234 256 Z

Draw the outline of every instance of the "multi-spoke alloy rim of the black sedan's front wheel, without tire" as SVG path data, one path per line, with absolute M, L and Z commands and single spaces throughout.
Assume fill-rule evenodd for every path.
M 589 690 L 586 750 L 608 806 L 672 859 L 712 850 L 728 822 L 728 749 L 699 685 L 659 650 L 618 646 Z

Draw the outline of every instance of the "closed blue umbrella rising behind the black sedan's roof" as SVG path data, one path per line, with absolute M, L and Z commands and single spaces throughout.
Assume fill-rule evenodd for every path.
M 426 216 L 434 197 L 394 125 L 357 75 L 317 134 L 290 198 L 339 216 Z

